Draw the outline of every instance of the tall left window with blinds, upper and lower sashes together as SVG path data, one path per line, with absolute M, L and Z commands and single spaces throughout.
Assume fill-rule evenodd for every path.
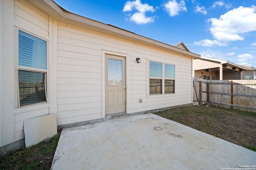
M 19 106 L 46 102 L 46 48 L 46 41 L 19 31 Z

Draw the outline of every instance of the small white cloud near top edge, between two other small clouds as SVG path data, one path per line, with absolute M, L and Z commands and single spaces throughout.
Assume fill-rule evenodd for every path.
M 169 0 L 166 4 L 164 4 L 164 9 L 169 13 L 170 16 L 176 16 L 179 14 L 179 12 L 187 11 L 184 0 L 181 0 L 180 3 L 178 3 L 176 0 Z

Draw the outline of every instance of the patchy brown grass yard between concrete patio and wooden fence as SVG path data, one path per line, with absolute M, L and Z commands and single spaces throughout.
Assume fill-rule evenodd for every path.
M 191 106 L 155 114 L 256 151 L 256 113 L 215 106 Z

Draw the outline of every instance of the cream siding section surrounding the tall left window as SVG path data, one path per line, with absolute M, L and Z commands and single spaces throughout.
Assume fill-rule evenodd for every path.
M 14 43 L 18 44 L 18 29 L 22 31 L 26 31 L 32 35 L 36 35 L 46 41 L 49 40 L 49 16 L 29 4 L 24 0 L 14 0 L 14 25 L 17 29 L 15 29 L 15 37 Z M 14 56 L 15 66 L 14 69 L 18 69 L 18 45 L 15 47 L 16 54 Z M 48 53 L 49 54 L 49 53 Z M 49 60 L 48 55 L 48 60 Z M 48 65 L 50 63 L 48 62 Z M 49 68 L 49 66 L 48 66 Z M 50 74 L 48 72 L 48 74 Z M 14 74 L 15 78 L 15 89 L 18 88 L 16 72 Z M 48 75 L 47 75 L 48 76 Z M 18 108 L 18 92 L 14 92 L 14 141 L 18 141 L 20 139 L 24 139 L 24 128 L 23 121 L 32 117 L 37 117 L 40 115 L 45 115 L 49 113 L 49 104 L 36 104 L 31 106 L 24 106 Z M 14 142 L 13 141 L 13 142 Z

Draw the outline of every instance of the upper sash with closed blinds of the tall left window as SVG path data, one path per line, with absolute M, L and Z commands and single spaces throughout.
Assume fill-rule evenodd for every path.
M 46 41 L 19 30 L 19 65 L 46 70 Z

